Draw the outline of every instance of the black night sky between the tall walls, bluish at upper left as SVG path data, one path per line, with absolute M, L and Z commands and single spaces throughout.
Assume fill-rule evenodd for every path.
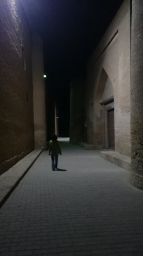
M 59 136 L 69 136 L 70 82 L 86 78 L 87 60 L 123 0 L 27 0 L 33 29 L 43 39 L 46 86 L 56 100 Z

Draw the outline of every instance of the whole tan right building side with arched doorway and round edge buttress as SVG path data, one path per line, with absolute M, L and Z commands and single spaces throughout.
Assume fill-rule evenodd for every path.
M 123 2 L 89 58 L 82 99 L 84 147 L 104 149 L 101 155 L 130 170 L 130 182 L 139 189 L 143 189 L 142 17 L 141 1 Z M 72 98 L 71 108 L 77 104 Z M 74 137 L 72 129 L 70 136 Z

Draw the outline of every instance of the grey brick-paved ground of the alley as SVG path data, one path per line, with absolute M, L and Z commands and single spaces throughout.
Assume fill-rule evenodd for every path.
M 143 255 L 143 192 L 99 152 L 44 151 L 0 209 L 1 256 Z

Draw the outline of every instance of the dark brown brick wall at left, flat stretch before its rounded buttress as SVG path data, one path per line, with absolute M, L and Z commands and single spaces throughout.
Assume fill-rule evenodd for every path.
M 19 0 L 0 1 L 0 174 L 34 145 L 31 34 Z

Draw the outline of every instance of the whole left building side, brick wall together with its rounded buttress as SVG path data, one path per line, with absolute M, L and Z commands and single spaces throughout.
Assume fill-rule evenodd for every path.
M 29 30 L 22 1 L 0 1 L 0 34 L 2 174 L 35 147 L 44 147 L 46 116 L 42 41 Z

